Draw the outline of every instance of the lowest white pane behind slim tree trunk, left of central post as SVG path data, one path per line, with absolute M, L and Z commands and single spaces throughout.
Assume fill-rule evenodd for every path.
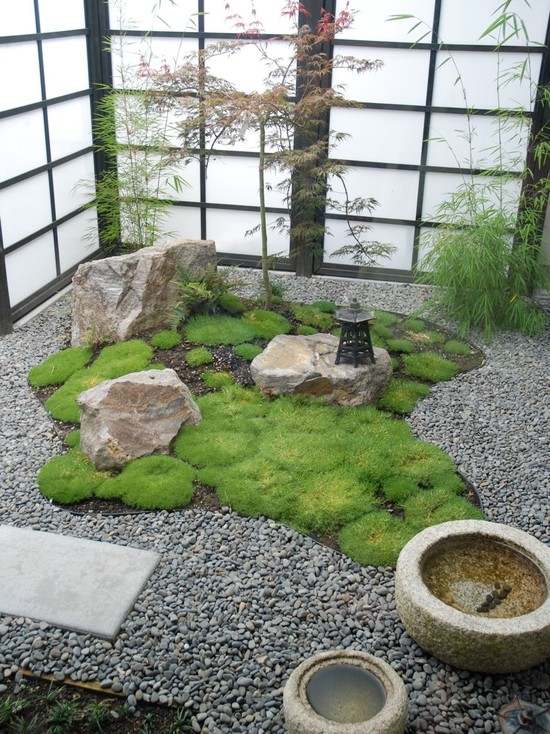
M 288 256 L 289 238 L 285 233 L 271 229 L 276 214 L 267 215 L 268 250 L 270 255 Z M 245 237 L 247 230 L 259 224 L 260 215 L 256 212 L 238 212 L 224 209 L 208 209 L 206 215 L 206 232 L 209 240 L 216 243 L 216 251 L 235 252 L 239 255 L 259 255 L 261 253 L 261 237 L 256 232 Z

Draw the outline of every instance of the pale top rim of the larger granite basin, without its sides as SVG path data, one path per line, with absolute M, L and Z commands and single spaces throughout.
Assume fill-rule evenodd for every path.
M 471 535 L 505 543 L 534 563 L 546 584 L 544 602 L 532 612 L 517 617 L 480 617 L 455 609 L 435 596 L 423 579 L 422 569 L 426 557 L 436 545 L 443 545 L 446 540 L 451 541 Z M 451 520 L 433 525 L 418 533 L 403 550 L 407 552 L 401 552 L 397 565 L 410 579 L 407 589 L 409 597 L 417 604 L 430 606 L 433 616 L 444 621 L 447 626 L 453 626 L 457 630 L 485 633 L 494 631 L 503 634 L 509 628 L 512 620 L 518 632 L 539 629 L 542 622 L 550 623 L 550 548 L 546 548 L 540 541 L 523 530 L 486 520 Z

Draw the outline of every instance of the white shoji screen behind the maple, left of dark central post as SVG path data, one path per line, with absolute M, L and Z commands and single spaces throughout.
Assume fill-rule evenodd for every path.
M 256 3 L 262 34 L 270 53 L 284 57 L 287 49 L 269 36 L 288 33 L 290 24 L 281 15 L 282 0 Z M 245 24 L 252 21 L 250 0 L 233 0 L 231 14 L 240 14 Z M 153 10 L 153 12 L 152 12 Z M 207 47 L 220 39 L 238 37 L 238 28 L 228 19 L 225 0 L 175 0 L 163 2 L 159 8 L 149 0 L 110 0 L 113 35 L 113 74 L 115 84 L 123 86 L 119 70 L 137 68 L 141 56 L 151 64 L 177 66 L 188 53 Z M 212 60 L 211 73 L 231 81 L 238 89 L 252 91 L 262 87 L 266 68 L 253 44 L 244 42 L 237 53 Z M 128 86 L 128 84 L 126 84 Z M 169 143 L 178 145 L 178 119 L 167 118 Z M 171 206 L 163 225 L 167 233 L 182 237 L 214 239 L 218 253 L 247 257 L 260 253 L 259 234 L 246 236 L 259 223 L 258 208 L 258 140 L 252 135 L 232 146 L 218 145 L 207 161 L 192 163 L 178 173 L 186 181 L 178 194 L 169 197 Z M 267 176 L 275 184 L 276 177 Z M 272 189 L 268 192 L 269 223 L 286 214 L 282 198 Z M 269 231 L 272 253 L 286 256 L 288 236 Z

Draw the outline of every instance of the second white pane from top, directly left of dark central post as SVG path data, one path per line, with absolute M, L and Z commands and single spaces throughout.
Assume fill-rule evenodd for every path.
M 281 64 L 288 64 L 291 55 L 288 44 L 284 41 L 267 41 L 265 46 L 270 58 L 278 59 Z M 265 89 L 264 79 L 271 69 L 263 61 L 254 43 L 248 42 L 230 56 L 221 55 L 210 59 L 208 70 L 214 76 L 233 84 L 239 91 L 251 93 Z

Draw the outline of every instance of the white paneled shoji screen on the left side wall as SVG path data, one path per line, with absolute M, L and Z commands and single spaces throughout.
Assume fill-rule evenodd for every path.
M 83 0 L 0 3 L 0 225 L 17 317 L 98 249 Z

